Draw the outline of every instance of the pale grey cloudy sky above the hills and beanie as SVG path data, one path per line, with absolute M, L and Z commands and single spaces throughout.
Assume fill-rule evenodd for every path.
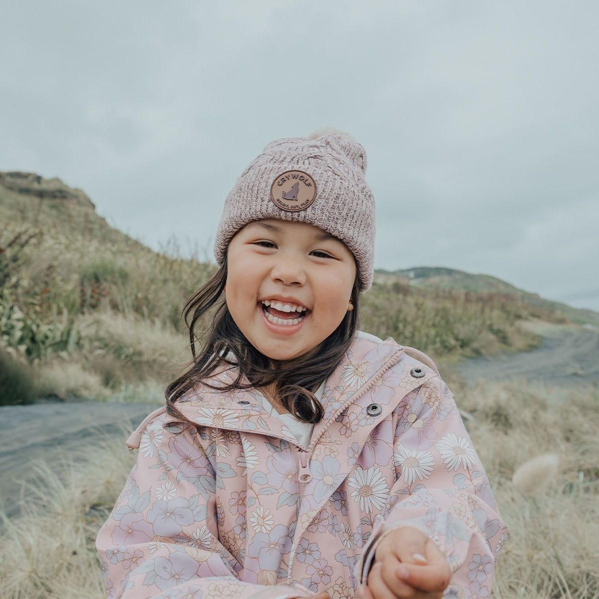
M 594 1 L 0 0 L 0 170 L 213 261 L 249 162 L 332 126 L 367 150 L 376 268 L 599 310 L 598 26 Z

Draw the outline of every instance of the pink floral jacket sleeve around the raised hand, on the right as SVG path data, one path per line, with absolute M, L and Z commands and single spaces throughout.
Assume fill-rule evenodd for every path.
M 367 583 L 382 539 L 409 526 L 431 537 L 446 556 L 452 577 L 444 596 L 488 597 L 509 529 L 453 395 L 439 376 L 407 394 L 398 407 L 394 466 L 391 507 L 374 524 L 356 564 L 356 580 Z

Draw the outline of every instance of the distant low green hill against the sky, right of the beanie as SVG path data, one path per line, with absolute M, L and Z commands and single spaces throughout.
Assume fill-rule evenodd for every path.
M 400 282 L 410 288 L 438 289 L 439 291 L 493 293 L 514 295 L 530 305 L 561 310 L 572 322 L 599 326 L 599 313 L 593 310 L 573 308 L 570 305 L 541 298 L 539 294 L 524 291 L 489 274 L 466 273 L 455 268 L 414 267 L 388 271 L 374 271 L 375 280 L 380 283 Z

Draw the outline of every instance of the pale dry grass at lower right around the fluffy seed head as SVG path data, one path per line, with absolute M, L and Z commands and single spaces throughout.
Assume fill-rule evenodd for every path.
M 479 385 L 462 397 L 467 427 L 512 533 L 498 561 L 495 597 L 599 597 L 599 391 Z M 528 459 L 555 453 L 559 471 L 531 497 L 511 478 Z

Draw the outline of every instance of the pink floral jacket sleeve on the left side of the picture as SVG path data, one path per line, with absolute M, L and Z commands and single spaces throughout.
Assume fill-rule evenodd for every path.
M 163 421 L 159 416 L 146 427 L 137 463 L 96 538 L 106 596 L 313 596 L 299 585 L 244 582 L 243 550 L 232 555 L 219 540 L 216 473 L 195 429 L 164 429 Z

